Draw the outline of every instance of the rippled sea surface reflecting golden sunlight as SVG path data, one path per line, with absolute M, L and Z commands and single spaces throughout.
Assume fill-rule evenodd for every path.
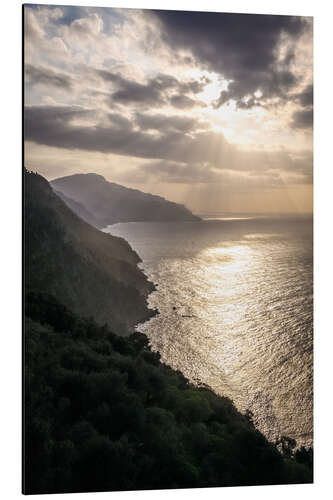
M 206 216 L 104 231 L 156 286 L 138 325 L 162 361 L 253 413 L 271 440 L 312 445 L 312 217 Z

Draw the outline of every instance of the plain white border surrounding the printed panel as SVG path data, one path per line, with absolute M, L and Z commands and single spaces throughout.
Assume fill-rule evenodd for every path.
M 48 2 L 40 1 L 47 4 Z M 50 2 L 49 2 L 50 3 Z M 60 5 L 168 8 L 315 17 L 315 485 L 94 493 L 121 500 L 327 498 L 332 490 L 332 7 L 305 0 L 62 1 Z M 21 496 L 21 2 L 7 0 L 1 11 L 1 360 L 0 493 Z M 75 495 L 76 497 L 77 495 Z M 34 497 L 34 496 L 33 496 Z M 42 498 L 66 498 L 46 495 Z M 83 497 L 82 497 L 83 498 Z

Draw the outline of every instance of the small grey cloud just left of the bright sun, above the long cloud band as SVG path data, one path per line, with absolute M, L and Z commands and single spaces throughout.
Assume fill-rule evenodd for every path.
M 186 94 L 198 94 L 209 83 L 207 78 L 181 82 L 165 74 L 150 78 L 147 83 L 139 83 L 112 71 L 96 70 L 96 74 L 105 82 L 110 82 L 117 87 L 117 90 L 111 94 L 111 98 L 112 101 L 121 104 L 140 103 L 161 106 L 175 102 L 176 107 L 193 107 L 198 101 Z M 173 93 L 176 95 L 172 95 Z

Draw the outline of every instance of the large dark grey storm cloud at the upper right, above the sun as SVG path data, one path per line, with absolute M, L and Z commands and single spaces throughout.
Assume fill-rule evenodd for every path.
M 263 100 L 283 97 L 296 83 L 290 69 L 293 51 L 277 62 L 277 47 L 282 34 L 296 39 L 309 18 L 179 11 L 153 11 L 152 15 L 172 49 L 190 51 L 198 63 L 233 80 L 215 107 L 230 99 L 241 104 L 258 89 Z

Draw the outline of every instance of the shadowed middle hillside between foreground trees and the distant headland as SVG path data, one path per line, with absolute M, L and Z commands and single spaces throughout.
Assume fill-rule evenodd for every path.
M 75 215 L 41 176 L 25 171 L 25 284 L 74 313 L 126 333 L 150 314 L 153 285 L 122 238 Z

